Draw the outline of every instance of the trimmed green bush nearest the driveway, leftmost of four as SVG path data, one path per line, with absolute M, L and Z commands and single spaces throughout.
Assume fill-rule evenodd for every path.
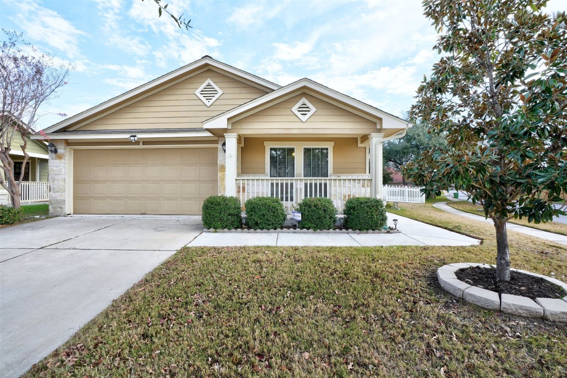
M 205 228 L 233 229 L 242 226 L 242 207 L 236 197 L 210 196 L 203 202 L 202 220 Z

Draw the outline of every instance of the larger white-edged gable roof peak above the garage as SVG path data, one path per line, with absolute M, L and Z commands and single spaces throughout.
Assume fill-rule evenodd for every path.
M 112 111 L 117 110 L 117 108 L 119 107 L 123 107 L 126 106 L 127 104 L 136 102 L 137 100 L 145 96 L 153 94 L 168 86 L 174 85 L 175 83 L 180 82 L 185 78 L 191 77 L 200 70 L 205 70 L 205 69 L 219 70 L 223 74 L 228 74 L 232 77 L 238 78 L 239 80 L 246 82 L 249 85 L 255 86 L 265 91 L 273 91 L 281 87 L 276 83 L 272 83 L 266 79 L 245 72 L 238 68 L 234 68 L 228 64 L 219 62 L 218 60 L 215 60 L 208 55 L 205 55 L 201 59 L 196 60 L 186 66 L 183 66 L 179 69 L 176 69 L 175 71 L 162 75 L 126 93 L 118 95 L 115 98 L 109 99 L 79 114 L 76 114 L 65 120 L 62 120 L 61 122 L 46 128 L 45 132 L 46 133 L 57 132 L 61 129 L 67 127 L 73 127 L 77 124 L 81 124 L 83 121 L 89 119 L 92 116 L 110 113 Z

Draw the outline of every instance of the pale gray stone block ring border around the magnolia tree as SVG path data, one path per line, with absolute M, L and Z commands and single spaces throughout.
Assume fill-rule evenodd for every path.
M 549 321 L 567 322 L 567 295 L 563 299 L 536 298 L 535 301 L 519 295 L 502 294 L 499 296 L 497 292 L 469 285 L 456 277 L 456 271 L 475 266 L 483 268 L 496 267 L 495 265 L 481 263 L 452 263 L 443 265 L 437 270 L 439 284 L 452 295 L 490 310 L 528 318 L 544 318 Z M 558 279 L 525 270 L 512 270 L 546 279 L 562 287 L 567 292 L 567 284 Z

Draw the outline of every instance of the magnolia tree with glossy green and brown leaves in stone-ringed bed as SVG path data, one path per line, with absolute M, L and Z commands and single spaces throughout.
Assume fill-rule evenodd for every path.
M 428 195 L 454 184 L 484 207 L 496 228 L 500 282 L 510 279 L 506 221 L 565 215 L 566 16 L 545 14 L 545 3 L 424 2 L 443 57 L 410 112 L 448 144 L 422 154 L 406 173 Z

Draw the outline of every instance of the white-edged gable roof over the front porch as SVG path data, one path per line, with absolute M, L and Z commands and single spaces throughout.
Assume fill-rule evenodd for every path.
M 319 97 L 327 102 L 331 102 L 339 107 L 351 111 L 354 114 L 376 121 L 376 123 L 381 123 L 382 128 L 403 129 L 411 127 L 412 125 L 400 117 L 396 117 L 395 115 L 352 98 L 351 96 L 342 94 L 308 78 L 299 79 L 298 81 L 276 89 L 270 93 L 260 96 L 259 98 L 232 108 L 229 111 L 211 117 L 208 120 L 203 121 L 203 125 L 206 129 L 227 128 L 229 119 L 231 121 L 241 119 L 269 107 L 273 102 L 285 100 L 297 95 L 298 93 L 308 93 Z

